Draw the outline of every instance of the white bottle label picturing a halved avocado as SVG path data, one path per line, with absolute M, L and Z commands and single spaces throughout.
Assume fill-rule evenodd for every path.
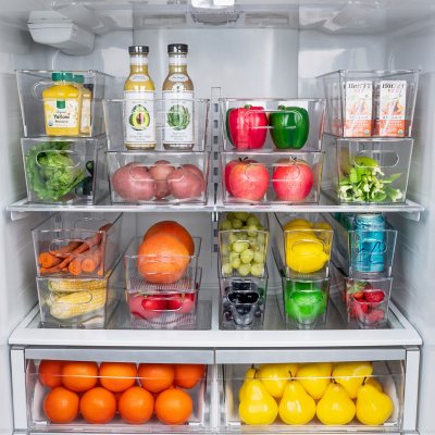
M 154 92 L 124 92 L 124 128 L 127 144 L 156 144 Z

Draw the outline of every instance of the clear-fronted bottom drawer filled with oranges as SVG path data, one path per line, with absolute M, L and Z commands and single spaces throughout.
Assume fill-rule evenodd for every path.
M 140 351 L 132 353 L 121 361 L 27 360 L 28 427 L 156 434 L 210 425 L 208 365 L 142 362 Z

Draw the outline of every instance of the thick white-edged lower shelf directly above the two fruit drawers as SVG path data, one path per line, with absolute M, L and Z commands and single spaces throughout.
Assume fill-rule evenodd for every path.
M 194 348 L 233 352 L 236 350 L 234 353 L 237 358 L 244 358 L 243 356 L 249 355 L 250 351 L 260 352 L 268 358 L 284 358 L 283 349 L 291 352 L 300 349 L 302 353 L 308 349 L 327 349 L 344 355 L 340 352 L 347 348 L 351 350 L 349 358 L 353 359 L 357 349 L 360 349 L 361 358 L 364 358 L 368 348 L 384 347 L 381 352 L 385 352 L 385 348 L 422 344 L 420 335 L 393 303 L 388 313 L 388 325 L 383 330 L 359 330 L 357 325 L 348 325 L 334 303 L 330 304 L 327 321 L 323 328 L 285 330 L 273 290 L 273 288 L 270 289 L 271 297 L 266 303 L 264 328 L 260 331 L 219 330 L 219 290 L 202 288 L 196 328 L 149 330 L 145 334 L 142 330 L 129 330 L 128 312 L 122 309 L 115 312 L 105 330 L 41 328 L 36 307 L 12 333 L 9 344 L 89 348 L 144 348 L 146 346 L 153 349 Z M 128 334 L 125 334 L 126 330 Z M 250 349 L 250 351 L 240 352 L 241 348 Z M 270 351 L 264 352 L 264 348 Z M 234 361 L 234 355 L 232 358 Z

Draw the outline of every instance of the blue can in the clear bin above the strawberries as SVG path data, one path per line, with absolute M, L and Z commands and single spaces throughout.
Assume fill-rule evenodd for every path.
M 380 273 L 384 271 L 385 219 L 382 214 L 357 214 L 350 240 L 350 262 L 353 271 Z

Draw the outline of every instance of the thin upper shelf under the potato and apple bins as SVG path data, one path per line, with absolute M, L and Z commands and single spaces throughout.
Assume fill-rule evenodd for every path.
M 183 204 L 111 204 L 110 198 L 105 197 L 97 204 L 42 204 L 29 203 L 27 198 L 16 201 L 8 206 L 7 210 L 11 212 L 12 221 L 24 219 L 28 213 L 34 212 L 124 212 L 124 213 L 144 213 L 144 212 L 219 212 L 219 211 L 252 211 L 252 212 L 295 212 L 295 213 L 401 213 L 405 217 L 412 221 L 420 221 L 420 213 L 424 211 L 424 207 L 409 199 L 405 203 L 395 204 L 337 204 L 330 197 L 321 194 L 319 204 L 224 204 L 222 200 L 221 186 L 217 187 L 216 200 L 213 192 L 209 194 L 206 204 L 200 203 L 183 203 Z

